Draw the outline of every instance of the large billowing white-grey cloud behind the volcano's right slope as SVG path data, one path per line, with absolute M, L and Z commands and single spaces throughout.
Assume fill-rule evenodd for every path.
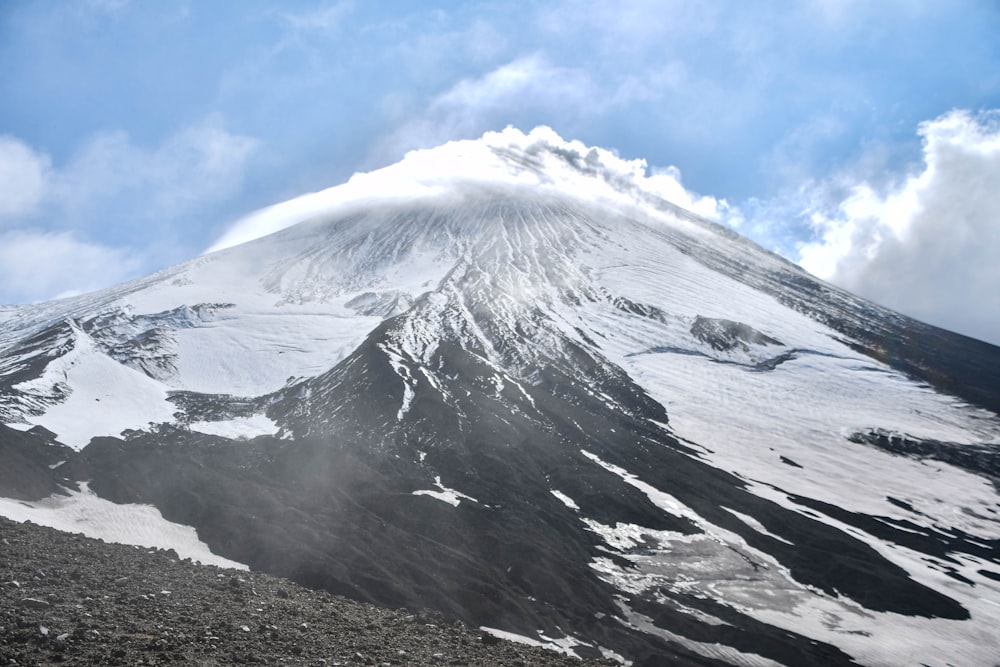
M 811 211 L 802 265 L 924 321 L 1000 344 L 1000 123 L 952 111 L 920 125 L 924 163 L 896 187 Z

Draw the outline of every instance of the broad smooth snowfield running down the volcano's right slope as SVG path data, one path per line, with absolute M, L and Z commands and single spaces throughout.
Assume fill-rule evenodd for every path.
M 925 439 L 1000 442 L 996 415 L 859 354 L 838 332 L 706 269 L 668 244 L 657 246 L 648 238 L 630 246 L 619 242 L 618 247 L 593 250 L 578 262 L 593 266 L 596 280 L 606 289 L 630 303 L 655 308 L 656 316 L 594 302 L 561 308 L 565 330 L 584 331 L 597 341 L 602 354 L 666 406 L 678 435 L 715 450 L 706 455 L 720 467 L 778 486 L 787 479 L 793 485 L 787 490 L 805 489 L 809 495 L 826 486 L 824 499 L 829 502 L 856 503 L 869 513 L 908 518 L 912 513 L 887 503 L 884 496 L 913 496 L 914 491 L 942 485 L 945 474 L 926 465 L 872 456 L 870 448 L 846 442 L 847 436 L 880 427 Z M 740 322 L 774 342 L 749 344 L 746 350 L 714 349 L 692 333 L 698 318 Z M 721 449 L 726 443 L 734 446 Z M 794 466 L 781 463 L 783 455 L 811 465 L 792 473 Z M 846 470 L 852 458 L 858 459 L 858 467 Z M 912 487 L 894 489 L 889 470 L 872 467 L 882 459 L 888 469 L 912 468 L 912 473 L 895 474 L 904 484 L 902 480 L 914 475 Z M 988 480 L 961 471 L 949 474 L 956 489 L 970 494 L 967 506 L 995 502 Z M 840 487 L 845 476 L 859 480 L 846 497 Z M 870 481 L 860 481 L 866 478 Z M 973 517 L 962 527 L 996 530 L 996 525 Z

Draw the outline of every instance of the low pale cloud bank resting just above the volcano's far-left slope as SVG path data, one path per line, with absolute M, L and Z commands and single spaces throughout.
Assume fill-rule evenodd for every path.
M 0 234 L 0 294 L 18 303 L 80 294 L 134 275 L 134 254 L 69 232 Z

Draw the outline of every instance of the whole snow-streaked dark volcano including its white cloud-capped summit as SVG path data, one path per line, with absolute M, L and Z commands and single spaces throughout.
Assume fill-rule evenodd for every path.
M 580 654 L 994 664 L 1000 348 L 661 185 L 507 130 L 6 309 L 0 489 Z

